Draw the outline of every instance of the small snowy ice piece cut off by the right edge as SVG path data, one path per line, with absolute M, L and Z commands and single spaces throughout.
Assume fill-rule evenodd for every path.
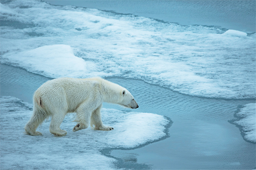
M 241 110 L 236 113 L 239 120 L 234 124 L 241 126 L 241 132 L 247 141 L 256 143 L 256 104 L 245 104 Z

